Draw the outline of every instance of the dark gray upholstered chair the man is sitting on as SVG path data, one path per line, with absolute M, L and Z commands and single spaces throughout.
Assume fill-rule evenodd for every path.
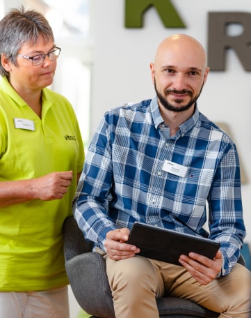
M 63 225 L 63 241 L 65 269 L 76 301 L 92 318 L 115 318 L 104 259 L 92 252 L 92 243 L 84 239 L 72 216 Z M 245 265 L 243 258 L 239 262 Z M 157 305 L 161 318 L 219 316 L 217 312 L 182 298 L 165 296 L 157 299 Z

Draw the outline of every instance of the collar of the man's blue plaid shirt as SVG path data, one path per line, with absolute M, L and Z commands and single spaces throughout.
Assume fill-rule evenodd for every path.
M 157 129 L 161 123 L 163 123 L 163 117 L 161 116 L 161 112 L 159 111 L 159 104 L 157 97 L 155 96 L 152 99 L 152 102 L 150 104 L 150 109 L 152 112 L 152 119 L 154 121 L 154 126 Z M 181 132 L 181 136 L 184 136 L 188 130 L 191 130 L 193 126 L 195 126 L 195 123 L 198 121 L 200 116 L 200 112 L 197 109 L 197 103 L 195 103 L 195 112 L 193 113 L 193 116 L 191 116 L 187 121 L 184 123 L 181 123 L 179 126 L 179 130 Z

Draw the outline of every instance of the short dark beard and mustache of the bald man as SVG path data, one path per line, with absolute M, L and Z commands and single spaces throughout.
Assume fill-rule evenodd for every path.
M 200 89 L 200 93 L 202 92 L 202 89 L 203 89 L 203 86 L 204 84 L 202 85 L 202 88 Z M 191 96 L 191 100 L 188 104 L 186 105 L 183 105 L 183 106 L 174 106 L 172 105 L 171 103 L 168 102 L 168 100 L 165 98 L 165 96 L 163 96 L 161 94 L 161 92 L 159 92 L 156 88 L 156 81 L 154 79 L 154 88 L 155 88 L 155 91 L 156 91 L 156 95 L 158 96 L 159 98 L 159 101 L 161 103 L 161 105 L 163 105 L 163 107 L 165 107 L 165 109 L 168 109 L 172 112 L 184 112 L 185 110 L 189 109 L 190 107 L 193 106 L 193 104 L 196 102 L 196 100 L 200 97 L 200 93 L 198 93 L 197 96 L 195 96 L 193 98 L 193 92 L 192 91 L 188 91 L 186 89 L 182 89 L 182 91 L 177 91 L 176 89 L 168 89 L 167 91 L 165 91 L 165 94 L 166 96 L 169 94 L 169 93 L 176 93 L 176 94 L 184 94 L 184 93 L 187 93 L 189 96 Z M 177 98 L 175 100 L 175 103 L 177 104 L 181 104 L 182 103 L 182 99 L 179 99 Z

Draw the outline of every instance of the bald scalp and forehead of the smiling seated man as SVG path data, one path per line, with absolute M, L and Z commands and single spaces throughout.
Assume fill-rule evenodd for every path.
M 199 66 L 202 71 L 207 68 L 207 54 L 201 43 L 192 36 L 175 34 L 163 40 L 156 50 L 155 66 L 159 63 L 168 63 L 169 59 L 177 56 L 179 63 L 186 66 Z

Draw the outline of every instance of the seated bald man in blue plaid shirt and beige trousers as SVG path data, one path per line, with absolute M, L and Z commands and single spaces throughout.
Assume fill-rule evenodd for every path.
M 152 100 L 104 114 L 86 156 L 75 218 L 104 252 L 117 318 L 159 317 L 156 298 L 164 294 L 220 317 L 248 318 L 250 271 L 236 264 L 245 238 L 238 154 L 197 107 L 209 74 L 206 53 L 191 36 L 170 36 L 150 70 Z M 204 236 L 207 224 L 220 250 L 214 259 L 180 255 L 180 266 L 137 256 L 139 248 L 127 244 L 136 221 L 195 236 Z

